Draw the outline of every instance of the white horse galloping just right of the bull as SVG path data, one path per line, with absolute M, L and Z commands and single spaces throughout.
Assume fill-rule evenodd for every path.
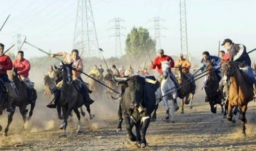
M 162 69 L 162 75 L 161 75 L 161 82 L 160 82 L 160 90 L 161 90 L 161 94 L 162 94 L 162 99 L 164 100 L 164 104 L 165 104 L 165 109 L 167 111 L 166 114 L 166 119 L 169 119 L 169 105 L 168 105 L 168 100 L 171 100 L 171 122 L 174 122 L 174 111 L 176 111 L 175 109 L 175 105 L 174 105 L 174 99 L 176 99 L 177 96 L 177 92 L 173 91 L 173 88 L 175 87 L 174 82 L 171 80 L 170 78 L 170 71 L 169 71 L 169 66 L 170 66 L 170 61 L 162 61 L 161 62 L 161 69 Z

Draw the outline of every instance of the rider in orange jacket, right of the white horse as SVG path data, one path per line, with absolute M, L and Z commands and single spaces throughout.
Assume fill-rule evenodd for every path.
M 178 61 L 175 62 L 175 67 L 181 67 L 182 72 L 184 73 L 184 75 L 188 79 L 190 79 L 190 81 L 191 81 L 191 94 L 194 95 L 195 94 L 195 81 L 194 81 L 194 78 L 192 77 L 192 74 L 189 72 L 189 69 L 191 67 L 190 61 L 188 59 L 183 58 L 183 54 L 180 54 Z M 175 68 L 174 70 L 177 71 L 179 69 Z

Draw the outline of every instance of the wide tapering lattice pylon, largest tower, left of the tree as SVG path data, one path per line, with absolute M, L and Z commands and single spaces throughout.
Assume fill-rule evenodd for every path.
M 78 49 L 81 56 L 100 57 L 90 0 L 78 0 L 73 48 Z

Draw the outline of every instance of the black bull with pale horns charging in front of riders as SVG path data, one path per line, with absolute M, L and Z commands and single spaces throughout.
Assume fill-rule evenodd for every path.
M 144 78 L 139 75 L 114 79 L 121 86 L 120 105 L 129 138 L 136 141 L 138 146 L 146 147 L 145 135 L 156 107 L 155 92 L 159 83 L 155 81 L 155 77 Z M 136 136 L 132 132 L 131 121 L 136 127 Z

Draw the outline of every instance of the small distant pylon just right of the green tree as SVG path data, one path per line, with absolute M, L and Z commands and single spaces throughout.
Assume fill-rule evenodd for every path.
M 164 19 L 161 19 L 160 17 L 154 17 L 152 19 L 150 19 L 149 21 L 154 21 L 155 22 L 155 40 L 156 40 L 156 49 L 160 49 L 161 48 L 161 37 L 163 37 L 164 35 L 162 35 L 160 33 L 161 29 L 166 29 L 163 26 L 160 26 L 160 21 L 164 21 Z

